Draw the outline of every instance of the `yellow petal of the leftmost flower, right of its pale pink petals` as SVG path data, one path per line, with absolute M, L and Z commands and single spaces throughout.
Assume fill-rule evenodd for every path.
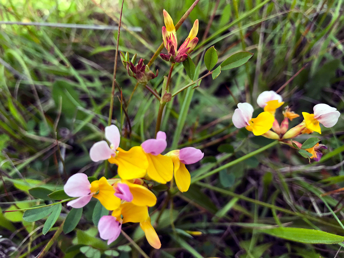
M 98 184 L 99 187 L 99 193 L 94 194 L 93 197 L 97 198 L 100 203 L 109 211 L 117 209 L 121 204 L 121 199 L 114 195 L 115 190 L 112 185 L 107 182 L 106 178 L 103 176 L 101 179 L 98 180 L 98 182 L 93 182 L 93 185 L 91 183 L 91 189 L 94 187 L 95 184 Z

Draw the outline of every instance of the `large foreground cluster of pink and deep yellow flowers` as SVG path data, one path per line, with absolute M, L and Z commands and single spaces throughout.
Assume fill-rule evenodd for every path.
M 120 132 L 115 125 L 105 128 L 105 138 L 110 142 L 99 141 L 90 149 L 92 161 L 108 160 L 118 165 L 120 178 L 89 182 L 86 174 L 72 175 L 64 186 L 64 191 L 71 197 L 78 197 L 67 203 L 74 208 L 85 206 L 92 197 L 97 198 L 111 215 L 100 218 L 98 230 L 100 237 L 108 244 L 117 239 L 123 223 L 140 223 L 148 243 L 160 248 L 160 239 L 151 225 L 148 207 L 157 202 L 157 197 L 148 189 L 146 180 L 166 184 L 173 176 L 178 189 L 185 192 L 189 189 L 191 176 L 185 164 L 201 160 L 204 153 L 193 147 L 173 150 L 165 155 L 166 134 L 157 133 L 156 139 L 148 139 L 141 146 L 128 151 L 119 147 Z

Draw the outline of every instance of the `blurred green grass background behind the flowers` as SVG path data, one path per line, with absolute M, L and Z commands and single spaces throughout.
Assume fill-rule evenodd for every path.
M 118 25 L 117 1 L 96 2 L 98 6 L 80 0 L 0 2 L 2 21 Z M 162 42 L 162 10 L 166 9 L 176 23 L 192 3 L 125 1 L 119 50 L 128 51 L 130 57 L 137 53 L 147 64 Z M 213 45 L 219 62 L 243 50 L 254 56 L 246 65 L 224 71 L 215 80 L 204 78 L 199 87 L 189 88 L 166 105 L 161 129 L 167 134 L 168 146 L 193 146 L 205 153 L 201 164 L 189 166 L 193 178 L 271 142 L 237 130 L 231 122 L 238 102 L 257 106 L 256 98 L 264 90 L 278 90 L 284 85 L 280 92 L 283 100 L 299 114 L 311 113 L 318 103 L 343 111 L 343 10 L 341 0 L 201 0 L 197 4 L 177 32 L 182 42 L 194 20 L 200 20 L 200 41 L 191 54 L 196 64 Z M 116 30 L 0 25 L 3 211 L 31 205 L 28 200 L 32 202 L 33 198 L 28 189 L 35 185 L 58 189 L 76 172 L 103 175 L 104 164 L 91 162 L 88 150 L 103 139 L 107 125 L 116 37 Z M 159 69 L 159 76 L 149 84 L 159 92 L 169 64 L 159 57 L 151 69 Z M 201 64 L 200 75 L 206 72 Z M 182 65 L 176 66 L 172 92 L 189 82 Z M 120 62 L 117 83 L 122 98 L 128 101 L 136 81 Z M 121 112 L 121 103 L 125 103 L 120 99 L 116 89 L 113 123 L 123 128 L 121 147 L 129 148 L 152 138 L 158 101 L 145 88 L 136 89 L 127 107 L 132 128 L 129 131 L 128 120 Z M 276 116 L 282 120 L 281 112 Z M 291 126 L 299 121 L 293 121 Z M 206 184 L 195 180 L 188 192 L 173 198 L 170 211 L 162 212 L 157 225 L 160 250 L 151 250 L 136 226 L 127 226 L 125 231 L 150 257 L 334 257 L 339 245 L 295 243 L 267 236 L 252 227 L 291 223 L 287 225 L 344 235 L 344 229 L 323 202 L 341 220 L 342 195 L 323 200 L 318 197 L 324 191 L 344 186 L 343 130 L 341 116 L 335 127 L 325 128 L 318 136 L 329 150 L 315 166 L 308 165 L 296 151 L 275 146 L 203 179 Z M 115 176 L 115 166 L 109 172 Z M 164 193 L 158 195 L 155 219 L 165 197 Z M 113 252 L 104 252 L 107 246 L 95 238 L 97 230 L 92 226 L 94 205 L 91 202 L 85 208 L 76 231 L 58 238 L 49 255 L 85 257 L 87 251 L 79 248 L 86 245 L 100 250 L 104 257 L 138 257 L 137 250 L 126 245 L 123 237 L 108 249 Z M 59 221 L 66 213 L 63 208 Z M 172 234 L 170 221 L 174 221 L 176 235 Z M 53 231 L 42 235 L 42 223 L 23 222 L 20 212 L 1 215 L 1 235 L 6 241 L 1 242 L 4 244 L 0 251 L 6 250 L 11 257 L 35 257 L 53 235 Z M 192 236 L 185 230 L 203 234 Z M 94 257 L 98 256 L 96 253 Z

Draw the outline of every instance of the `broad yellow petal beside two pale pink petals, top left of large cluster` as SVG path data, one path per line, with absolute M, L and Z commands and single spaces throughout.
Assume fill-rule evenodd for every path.
M 125 151 L 118 148 L 115 158 L 110 158 L 110 163 L 118 165 L 118 175 L 121 179 L 143 178 L 147 173 L 148 160 L 141 146 L 132 147 Z

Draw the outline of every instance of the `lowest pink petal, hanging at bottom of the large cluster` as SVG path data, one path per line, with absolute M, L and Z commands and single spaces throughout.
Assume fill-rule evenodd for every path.
M 99 219 L 98 230 L 101 238 L 108 240 L 108 245 L 115 241 L 121 233 L 122 224 L 116 217 L 105 215 Z

